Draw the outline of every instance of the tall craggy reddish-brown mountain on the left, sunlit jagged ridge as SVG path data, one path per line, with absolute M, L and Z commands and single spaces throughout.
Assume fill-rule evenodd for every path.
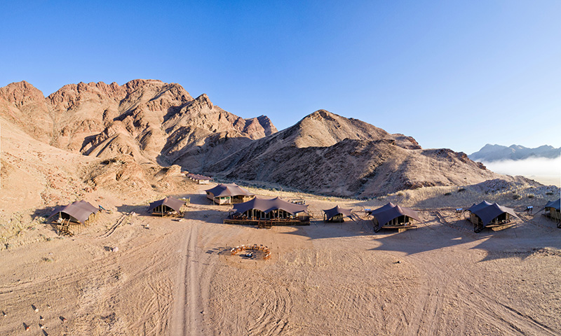
M 100 158 L 132 155 L 162 165 L 185 153 L 210 151 L 199 148 L 243 144 L 276 132 L 266 116 L 234 116 L 206 94 L 194 99 L 181 85 L 160 80 L 70 84 L 48 97 L 29 83 L 12 83 L 0 89 L 0 116 L 67 151 Z

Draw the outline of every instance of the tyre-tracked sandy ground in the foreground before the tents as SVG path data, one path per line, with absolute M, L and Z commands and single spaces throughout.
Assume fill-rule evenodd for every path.
M 0 335 L 561 335 L 561 230 L 540 215 L 480 234 L 451 209 L 401 233 L 267 230 L 187 196 L 184 221 L 121 206 L 74 237 L 46 227 L 0 251 Z M 230 255 L 240 244 L 272 258 Z

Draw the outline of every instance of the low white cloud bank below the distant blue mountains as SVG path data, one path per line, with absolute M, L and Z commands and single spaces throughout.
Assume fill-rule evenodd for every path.
M 561 157 L 556 159 L 502 160 L 483 162 L 483 164 L 499 174 L 522 175 L 539 183 L 561 185 Z

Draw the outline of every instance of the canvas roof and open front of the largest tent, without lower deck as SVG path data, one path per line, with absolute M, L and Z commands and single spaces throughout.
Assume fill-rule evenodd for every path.
M 280 200 L 279 197 L 272 200 L 255 197 L 248 202 L 236 204 L 233 213 L 254 220 L 282 220 L 298 217 L 309 219 L 305 217 L 308 214 L 307 205 L 286 202 Z

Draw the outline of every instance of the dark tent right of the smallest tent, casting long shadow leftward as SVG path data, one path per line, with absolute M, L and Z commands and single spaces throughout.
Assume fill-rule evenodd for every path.
M 411 220 L 421 222 L 419 214 L 413 209 L 400 207 L 389 202 L 378 209 L 369 212 L 372 215 L 372 223 L 374 223 L 374 231 L 381 229 L 399 229 L 407 230 L 417 228 L 417 225 L 411 223 Z

